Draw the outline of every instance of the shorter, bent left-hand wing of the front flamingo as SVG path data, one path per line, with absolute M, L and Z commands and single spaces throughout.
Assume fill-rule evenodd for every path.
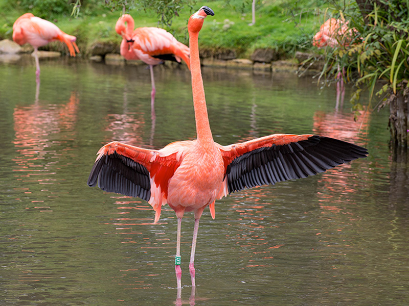
M 167 202 L 169 181 L 191 145 L 192 142 L 179 141 L 161 150 L 150 150 L 110 142 L 98 151 L 87 184 L 148 201 L 156 212 L 156 223 Z

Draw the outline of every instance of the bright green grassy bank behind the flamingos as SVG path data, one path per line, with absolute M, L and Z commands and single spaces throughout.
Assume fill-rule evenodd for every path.
M 103 1 L 101 3 L 83 8 L 78 18 L 71 17 L 69 9 L 50 14 L 48 18 L 64 32 L 77 36 L 83 56 L 89 55 L 90 48 L 96 42 L 119 44 L 121 41 L 121 37 L 115 32 L 115 23 L 122 11 L 111 12 L 103 6 Z M 215 16 L 207 19 L 200 32 L 201 48 L 215 52 L 234 50 L 239 58 L 248 58 L 256 48 L 272 48 L 284 57 L 290 57 L 296 50 L 308 50 L 312 47 L 313 33 L 323 21 L 318 16 L 323 9 L 315 5 L 315 1 L 265 0 L 256 7 L 256 24 L 250 26 L 251 5 L 242 7 L 243 3 L 244 1 L 239 0 L 206 2 L 215 11 Z M 194 7 L 196 9 L 201 5 L 202 3 L 197 3 Z M 22 10 L 18 2 L 0 0 L 1 39 L 11 39 L 13 22 L 25 12 L 27 11 Z M 135 27 L 158 25 L 153 12 L 134 9 L 130 14 L 135 19 Z M 179 16 L 174 17 L 171 29 L 167 29 L 186 44 L 187 20 L 191 14 L 189 8 L 180 11 Z M 58 46 L 55 44 L 51 48 Z

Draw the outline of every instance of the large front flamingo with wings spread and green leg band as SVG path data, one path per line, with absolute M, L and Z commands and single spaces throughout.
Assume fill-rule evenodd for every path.
M 98 151 L 87 182 L 90 187 L 98 184 L 102 190 L 148 201 L 155 211 L 155 223 L 165 203 L 175 211 L 178 292 L 181 290 L 180 231 L 185 212 L 193 212 L 195 219 L 189 263 L 194 288 L 199 219 L 206 207 L 215 218 L 215 200 L 246 188 L 324 172 L 368 154 L 366 148 L 316 135 L 275 134 L 227 146 L 214 142 L 198 49 L 198 34 L 208 15 L 213 16 L 214 12 L 203 6 L 188 22 L 197 139 L 173 142 L 159 150 L 110 142 Z

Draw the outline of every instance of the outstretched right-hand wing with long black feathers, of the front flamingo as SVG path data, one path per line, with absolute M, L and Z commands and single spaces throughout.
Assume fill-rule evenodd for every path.
M 316 135 L 276 134 L 220 146 L 228 193 L 301 179 L 368 155 L 366 148 Z

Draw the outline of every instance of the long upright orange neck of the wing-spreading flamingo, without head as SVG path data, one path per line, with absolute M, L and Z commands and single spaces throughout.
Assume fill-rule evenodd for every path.
M 213 142 L 210 130 L 208 110 L 206 107 L 205 89 L 201 78 L 199 58 L 199 33 L 189 33 L 190 72 L 192 75 L 193 106 L 196 119 L 197 140 L 201 142 Z

